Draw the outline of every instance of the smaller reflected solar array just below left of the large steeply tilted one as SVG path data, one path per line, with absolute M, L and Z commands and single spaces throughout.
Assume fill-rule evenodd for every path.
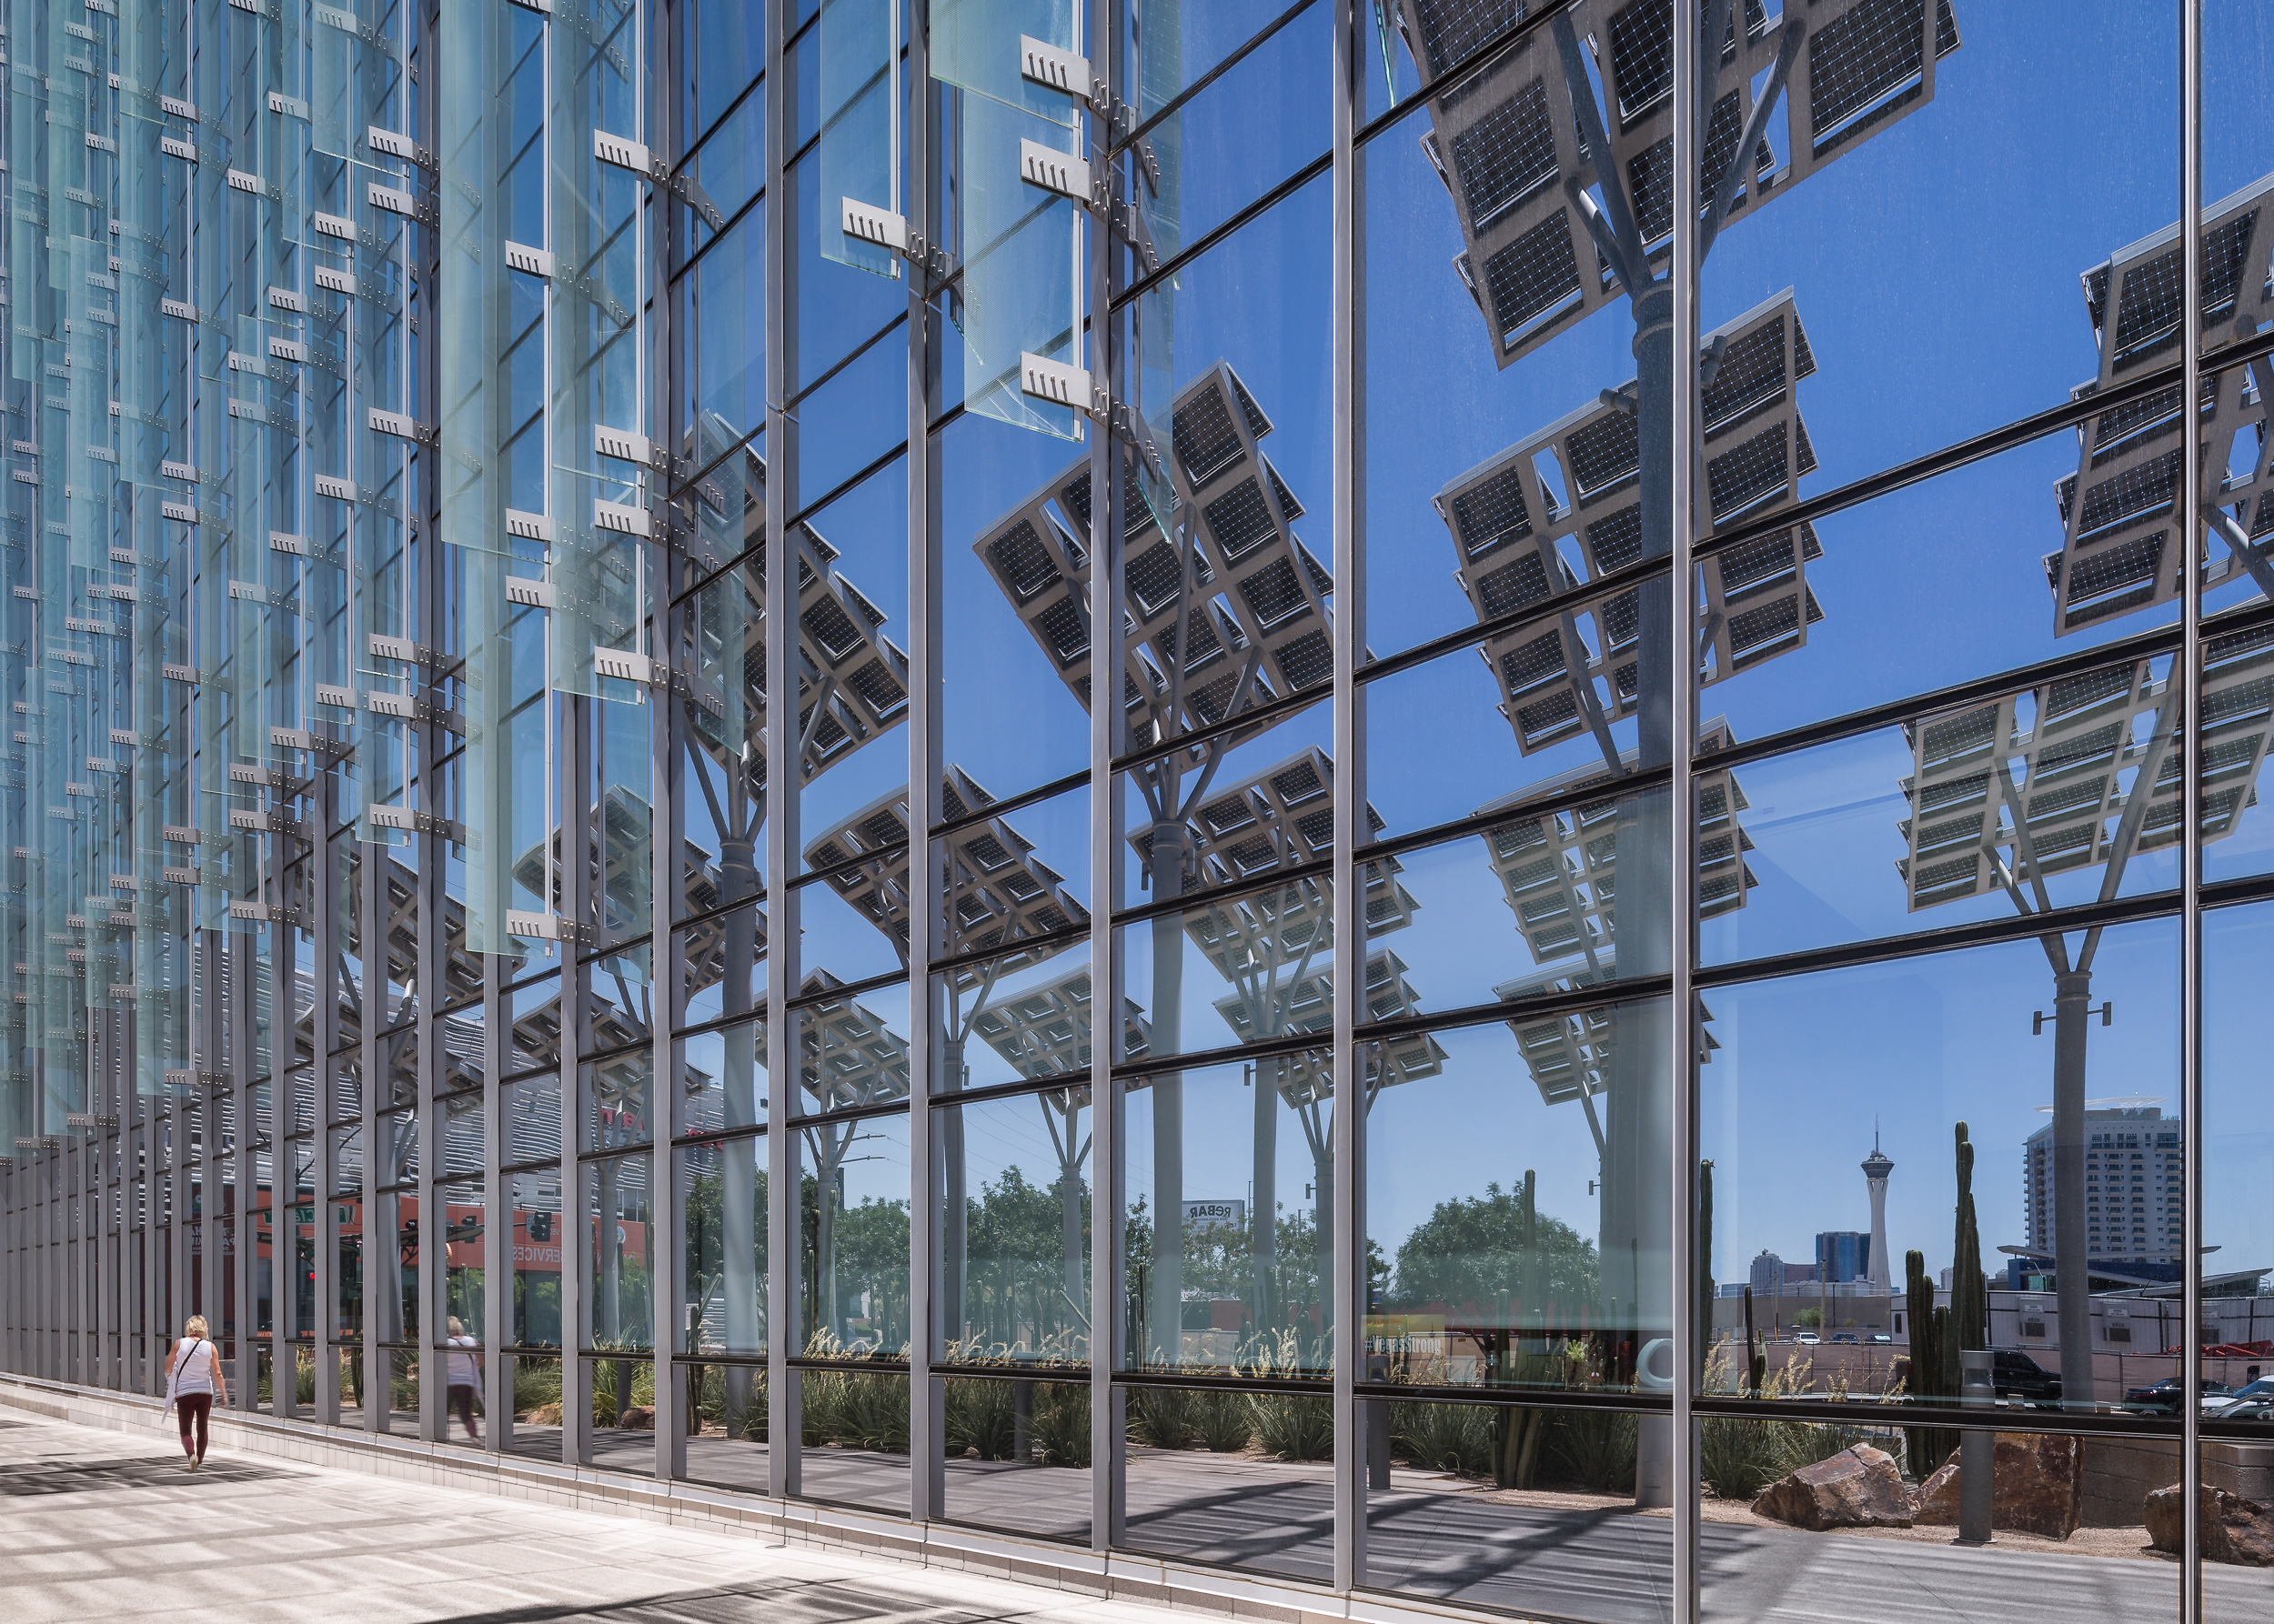
M 994 796 L 951 764 L 939 787 L 941 814 L 960 821 L 985 812 Z M 1087 926 L 1089 910 L 1067 894 L 1064 880 L 1035 855 L 1035 844 L 1005 819 L 966 823 L 941 839 L 948 864 L 946 953 L 1007 948 L 991 964 L 962 964 L 955 987 L 978 985 L 989 971 L 1003 973 L 1039 964 L 1064 944 L 1019 951 L 1023 937 L 1046 937 Z M 805 867 L 825 876 L 857 914 L 891 937 L 901 962 L 910 953 L 910 839 L 907 789 L 894 789 L 823 830 L 805 848 Z

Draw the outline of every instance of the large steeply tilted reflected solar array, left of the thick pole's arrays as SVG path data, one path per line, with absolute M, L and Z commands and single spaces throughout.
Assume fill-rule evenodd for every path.
M 1333 575 L 1294 535 L 1303 505 L 1258 441 L 1271 421 L 1217 362 L 1171 403 L 1173 516 L 1123 462 L 1121 703 L 1144 748 L 1333 678 Z M 1167 519 L 1167 523 L 1162 523 Z M 1176 539 L 1171 539 L 1171 530 Z M 976 541 L 980 560 L 1073 696 L 1089 707 L 1089 464 L 1076 462 Z

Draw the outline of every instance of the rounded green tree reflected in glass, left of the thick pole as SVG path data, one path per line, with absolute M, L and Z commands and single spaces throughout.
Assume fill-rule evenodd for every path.
M 1537 1281 L 1526 1290 L 1526 1281 Z M 1562 1219 L 1539 1217 L 1521 1190 L 1485 1185 L 1483 1196 L 1439 1201 L 1399 1244 L 1389 1299 L 1408 1312 L 1512 1321 L 1514 1315 L 1592 1306 L 1601 1292 L 1594 1242 Z

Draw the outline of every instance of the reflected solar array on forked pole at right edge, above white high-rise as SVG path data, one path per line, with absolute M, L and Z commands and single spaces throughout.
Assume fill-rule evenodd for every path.
M 2165 662 L 2167 664 L 2167 662 Z M 1906 726 L 1910 817 L 1897 862 L 1910 908 L 2028 887 L 2178 839 L 2181 746 L 2158 737 L 2172 678 L 2126 660 Z M 2274 728 L 2274 632 L 2204 651 L 2204 842 L 2256 798 Z M 2122 821 L 2147 778 L 2138 837 Z

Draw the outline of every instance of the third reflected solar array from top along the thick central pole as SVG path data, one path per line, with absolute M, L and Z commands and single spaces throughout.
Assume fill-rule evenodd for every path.
M 1701 755 L 1726 751 L 1731 744 L 1735 737 L 1724 716 L 1699 728 Z M 1621 757 L 1621 764 L 1628 762 L 1633 762 L 1633 751 Z M 1492 812 L 1519 798 L 1539 801 L 1594 787 L 1608 794 L 1601 801 L 1574 801 L 1555 812 L 1496 823 L 1485 830 L 1483 839 L 1533 960 L 1555 964 L 1565 958 L 1585 958 L 1587 976 L 1610 978 L 1617 973 L 1619 819 L 1628 810 L 1619 794 L 1619 780 L 1599 767 L 1583 767 L 1487 803 L 1478 812 Z M 1744 908 L 1746 892 L 1758 885 L 1744 862 L 1753 842 L 1737 821 L 1737 814 L 1746 810 L 1746 798 L 1737 778 L 1726 771 L 1696 773 L 1696 796 L 1699 919 L 1717 919 Z

